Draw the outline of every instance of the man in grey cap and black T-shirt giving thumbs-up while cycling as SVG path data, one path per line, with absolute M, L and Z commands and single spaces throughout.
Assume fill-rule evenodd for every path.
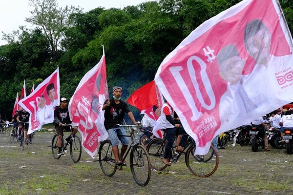
M 111 140 L 112 150 L 117 164 L 121 164 L 121 159 L 123 159 L 128 146 L 128 139 L 126 137 L 120 136 L 126 135 L 126 131 L 123 127 L 120 127 L 116 124 L 122 124 L 125 113 L 127 113 L 128 117 L 135 125 L 137 124 L 126 102 L 121 100 L 121 95 L 122 87 L 113 87 L 113 98 L 107 99 L 103 105 L 103 110 L 105 110 L 104 125 L 109 134 L 109 139 Z M 118 139 L 122 143 L 120 158 L 118 150 Z M 126 164 L 126 162 L 124 163 Z

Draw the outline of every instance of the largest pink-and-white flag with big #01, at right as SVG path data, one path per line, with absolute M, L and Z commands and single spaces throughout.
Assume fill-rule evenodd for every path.
M 277 0 L 243 0 L 205 21 L 155 82 L 206 154 L 221 132 L 293 101 L 292 37 Z

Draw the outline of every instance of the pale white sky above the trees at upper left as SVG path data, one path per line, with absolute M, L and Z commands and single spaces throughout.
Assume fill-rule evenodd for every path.
M 138 5 L 149 0 L 57 0 L 59 7 L 79 6 L 84 12 L 95 9 L 99 6 L 109 9 L 111 7 L 121 8 L 128 5 Z M 26 23 L 25 18 L 31 16 L 30 11 L 33 9 L 28 5 L 28 0 L 1 0 L 0 5 L 0 45 L 7 44 L 2 40 L 2 32 L 10 34 L 14 30 L 18 30 L 20 25 L 30 28 L 30 24 Z

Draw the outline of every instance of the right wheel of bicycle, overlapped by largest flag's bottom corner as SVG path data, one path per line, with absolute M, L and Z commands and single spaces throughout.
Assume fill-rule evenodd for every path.
M 185 155 L 185 163 L 189 171 L 199 177 L 211 176 L 218 168 L 219 155 L 215 148 L 211 145 L 210 151 L 206 155 L 195 155 L 195 148 L 190 146 Z M 213 157 L 213 154 L 216 157 Z

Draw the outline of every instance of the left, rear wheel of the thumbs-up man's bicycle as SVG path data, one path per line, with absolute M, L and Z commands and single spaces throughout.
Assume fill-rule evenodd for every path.
M 117 166 L 110 140 L 105 140 L 101 143 L 99 147 L 99 162 L 106 176 L 113 176 L 115 174 Z

